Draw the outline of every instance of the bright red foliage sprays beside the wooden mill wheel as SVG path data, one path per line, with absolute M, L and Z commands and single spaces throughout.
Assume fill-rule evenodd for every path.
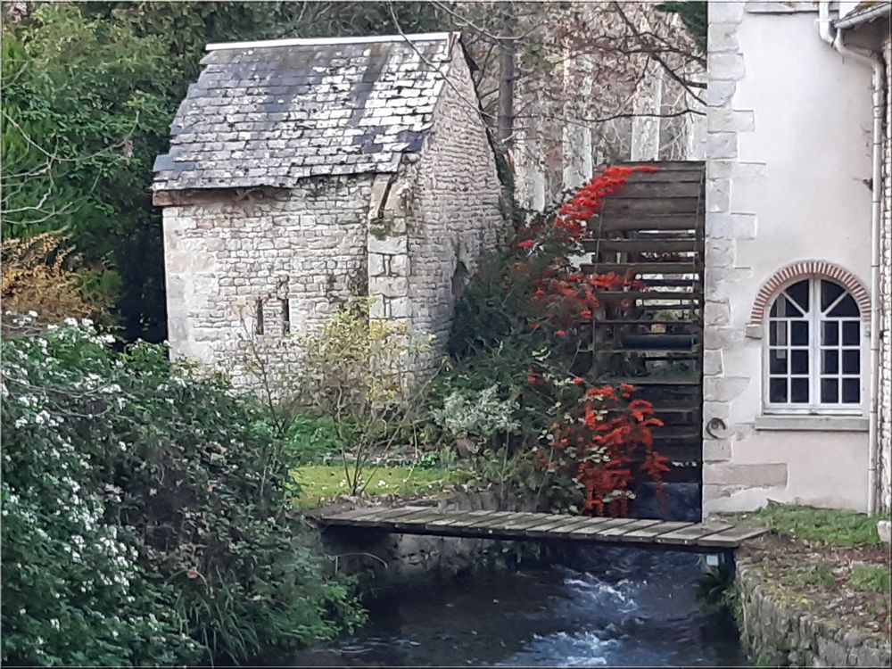
M 524 258 L 530 259 L 531 254 L 547 249 L 558 258 L 533 279 L 531 328 L 547 325 L 553 335 L 566 338 L 605 306 L 599 292 L 647 288 L 631 276 L 582 273 L 567 258 L 582 252 L 580 238 L 585 227 L 608 195 L 622 188 L 633 172 L 656 170 L 649 166 L 608 167 L 560 208 L 553 225 L 539 222 L 526 228 L 524 237 L 516 243 L 516 250 L 525 252 Z M 512 270 L 519 273 L 530 267 L 520 260 Z M 629 301 L 622 299 L 612 303 L 620 309 L 629 306 Z M 654 417 L 648 401 L 632 400 L 632 385 L 583 389 L 584 379 L 580 376 L 558 383 L 546 371 L 531 371 L 528 380 L 540 391 L 562 386 L 582 390 L 582 395 L 566 409 L 565 417 L 543 434 L 544 445 L 536 450 L 546 471 L 568 475 L 582 490 L 582 513 L 628 515 L 629 500 L 633 497 L 631 485 L 638 473 L 657 483 L 658 491 L 662 491 L 662 475 L 669 469 L 669 460 L 654 450 L 651 428 L 663 424 Z M 575 392 L 578 394 L 579 390 Z

